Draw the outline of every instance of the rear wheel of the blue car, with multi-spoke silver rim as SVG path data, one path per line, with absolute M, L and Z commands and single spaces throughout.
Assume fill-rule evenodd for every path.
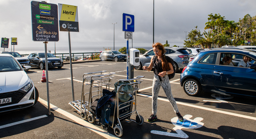
M 202 87 L 198 81 L 187 79 L 183 83 L 183 90 L 188 96 L 198 96 L 202 91 Z

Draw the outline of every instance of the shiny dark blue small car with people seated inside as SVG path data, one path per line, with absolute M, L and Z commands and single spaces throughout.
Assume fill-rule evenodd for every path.
M 223 58 L 227 56 L 232 58 L 232 66 L 224 65 Z M 244 59 L 249 67 L 238 66 Z M 256 98 L 255 60 L 256 52 L 247 49 L 206 49 L 183 69 L 180 85 L 189 96 L 197 96 L 203 91 Z

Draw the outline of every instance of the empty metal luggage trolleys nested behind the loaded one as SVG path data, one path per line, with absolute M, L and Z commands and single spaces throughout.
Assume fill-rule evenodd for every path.
M 93 73 L 84 73 L 83 74 L 83 86 L 82 86 L 82 97 L 81 100 L 72 101 L 69 103 L 74 109 L 80 112 L 80 115 L 83 120 L 88 118 L 90 123 L 95 121 L 94 115 L 90 112 L 92 98 L 98 97 L 102 95 L 102 87 L 106 86 L 106 89 L 112 82 L 114 76 L 113 74 L 116 73 L 105 73 L 106 71 L 101 72 L 93 72 Z M 100 75 L 94 75 L 100 74 Z M 84 93 L 84 85 L 90 85 L 90 91 L 88 93 Z M 93 91 L 92 88 L 95 88 L 96 91 Z M 92 96 L 92 93 L 97 93 L 97 95 Z M 85 101 L 85 95 L 89 95 L 88 102 Z

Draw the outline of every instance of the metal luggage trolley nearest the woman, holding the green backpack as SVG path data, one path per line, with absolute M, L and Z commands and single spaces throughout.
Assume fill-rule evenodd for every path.
M 141 78 L 144 78 L 144 76 L 137 76 L 134 79 L 128 79 L 128 80 L 118 80 L 117 84 L 119 84 L 120 81 L 130 81 L 130 83 L 121 84 L 119 88 L 117 87 L 116 98 L 118 98 L 119 94 L 124 94 L 124 92 L 122 90 L 124 89 L 124 87 L 126 85 L 132 85 L 132 87 L 133 87 L 133 93 L 129 94 L 132 99 L 130 99 L 129 101 L 127 101 L 125 103 L 121 103 L 118 101 L 118 99 L 115 99 L 115 110 L 114 110 L 114 116 L 113 116 L 113 120 L 112 120 L 113 122 L 110 126 L 114 129 L 114 133 L 118 137 L 121 137 L 123 135 L 123 127 L 120 122 L 121 120 L 128 122 L 128 123 L 135 122 L 139 125 L 142 125 L 144 123 L 144 118 L 141 115 L 139 115 L 137 108 L 136 108 L 137 93 L 138 93 L 138 90 L 140 89 L 140 84 L 143 81 L 143 80 L 139 80 Z M 128 113 L 122 113 L 123 109 L 126 109 L 124 107 L 127 104 L 131 104 L 130 111 Z M 133 108 L 133 105 L 134 105 L 134 108 Z M 136 114 L 136 120 L 131 119 L 132 114 Z M 116 122 L 115 122 L 115 119 L 117 119 Z

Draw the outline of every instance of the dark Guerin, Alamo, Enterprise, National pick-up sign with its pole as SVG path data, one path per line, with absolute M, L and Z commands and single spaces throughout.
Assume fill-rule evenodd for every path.
M 48 77 L 48 60 L 47 60 L 47 43 L 48 41 L 59 41 L 59 24 L 58 24 L 58 5 L 46 2 L 31 1 L 31 17 L 32 17 L 32 40 L 44 43 L 45 54 L 45 76 L 47 87 L 47 101 L 49 115 L 50 94 L 49 94 L 49 77 Z

